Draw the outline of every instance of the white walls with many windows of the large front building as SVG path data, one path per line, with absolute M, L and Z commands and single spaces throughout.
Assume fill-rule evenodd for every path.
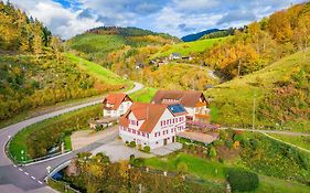
M 174 117 L 168 109 L 164 110 L 163 115 L 157 122 L 151 133 L 146 133 L 146 132 L 143 133 L 138 131 L 145 120 L 138 121 L 138 126 L 137 126 L 137 125 L 132 125 L 130 121 L 130 120 L 137 120 L 133 114 L 131 112 L 128 117 L 129 117 L 129 128 L 124 128 L 119 126 L 119 136 L 121 137 L 124 142 L 136 141 L 137 146 L 138 144 L 141 144 L 142 147 L 149 146 L 151 149 L 162 147 L 164 146 L 164 142 L 167 142 L 167 144 L 171 143 L 173 142 L 173 138 L 175 141 L 175 135 L 178 132 L 184 131 L 185 129 L 185 115 Z M 180 117 L 182 119 L 181 121 L 180 121 Z M 163 120 L 169 124 L 162 125 Z M 130 131 L 128 131 L 128 129 L 130 129 Z M 132 133 L 132 129 L 136 130 L 135 131 L 136 133 Z

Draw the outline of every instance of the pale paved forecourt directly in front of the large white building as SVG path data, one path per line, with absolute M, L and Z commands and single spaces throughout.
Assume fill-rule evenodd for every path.
M 151 158 L 153 157 L 150 153 L 145 153 L 139 151 L 137 148 L 126 147 L 121 140 L 114 140 L 101 147 L 92 151 L 94 154 L 98 152 L 104 152 L 110 158 L 110 161 L 116 162 L 120 160 L 128 160 L 130 154 L 135 154 L 136 158 Z

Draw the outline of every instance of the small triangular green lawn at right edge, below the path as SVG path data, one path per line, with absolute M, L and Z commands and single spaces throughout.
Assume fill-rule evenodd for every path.
M 310 137 L 309 136 L 288 136 L 288 135 L 277 135 L 268 133 L 269 136 L 280 139 L 282 141 L 289 142 L 295 146 L 310 150 Z

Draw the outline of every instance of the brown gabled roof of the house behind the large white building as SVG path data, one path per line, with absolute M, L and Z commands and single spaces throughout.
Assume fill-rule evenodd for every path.
M 202 92 L 194 90 L 158 90 L 152 104 L 182 104 L 184 107 L 195 107 L 200 98 L 206 101 Z M 206 101 L 207 103 L 207 101 Z

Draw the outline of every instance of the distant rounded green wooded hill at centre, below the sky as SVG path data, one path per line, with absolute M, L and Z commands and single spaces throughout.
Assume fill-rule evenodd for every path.
M 109 67 L 111 64 L 106 62 L 106 58 L 119 50 L 129 47 L 131 52 L 136 52 L 139 47 L 159 47 L 174 42 L 180 42 L 180 40 L 138 28 L 101 26 L 76 35 L 66 44 L 70 49 L 77 51 L 82 57 Z

